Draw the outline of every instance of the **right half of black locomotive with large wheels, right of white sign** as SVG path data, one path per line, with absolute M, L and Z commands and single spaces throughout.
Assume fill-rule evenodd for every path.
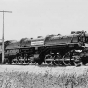
M 67 36 L 50 35 L 45 38 L 44 43 L 45 48 L 40 57 L 45 63 L 54 65 L 88 63 L 88 34 L 84 31 L 72 32 Z

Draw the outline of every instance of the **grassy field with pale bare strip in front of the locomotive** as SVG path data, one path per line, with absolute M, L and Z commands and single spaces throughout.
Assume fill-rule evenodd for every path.
M 0 65 L 0 88 L 88 88 L 88 67 Z

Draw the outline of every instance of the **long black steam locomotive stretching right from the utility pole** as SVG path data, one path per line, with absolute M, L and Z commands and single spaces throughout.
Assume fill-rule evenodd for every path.
M 48 65 L 86 65 L 88 63 L 88 33 L 72 31 L 70 35 L 47 35 L 37 39 L 5 41 L 8 64 L 38 63 Z

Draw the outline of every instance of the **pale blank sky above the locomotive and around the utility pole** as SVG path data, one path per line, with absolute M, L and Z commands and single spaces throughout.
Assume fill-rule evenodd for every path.
M 0 0 L 5 40 L 88 30 L 88 0 Z M 3 14 L 0 13 L 0 39 Z M 87 31 L 88 32 L 88 31 Z

